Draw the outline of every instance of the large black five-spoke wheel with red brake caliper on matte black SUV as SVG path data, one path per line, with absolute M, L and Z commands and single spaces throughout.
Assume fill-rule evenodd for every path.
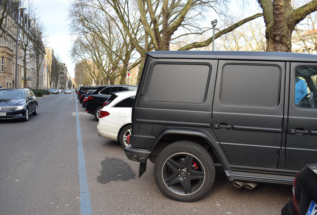
M 166 146 L 154 166 L 160 191 L 176 201 L 193 202 L 204 197 L 215 180 L 215 166 L 208 151 L 191 141 Z

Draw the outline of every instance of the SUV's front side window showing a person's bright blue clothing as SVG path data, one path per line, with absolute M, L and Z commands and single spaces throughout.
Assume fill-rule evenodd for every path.
M 295 69 L 294 104 L 298 108 L 317 108 L 317 68 Z

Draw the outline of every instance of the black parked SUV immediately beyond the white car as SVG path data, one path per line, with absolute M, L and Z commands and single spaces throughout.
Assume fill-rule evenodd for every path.
M 107 85 L 99 86 L 95 92 L 90 94 L 87 98 L 86 111 L 95 115 L 95 118 L 99 120 L 99 112 L 102 109 L 104 103 L 111 97 L 112 93 L 121 91 L 137 90 L 138 86 L 134 85 Z

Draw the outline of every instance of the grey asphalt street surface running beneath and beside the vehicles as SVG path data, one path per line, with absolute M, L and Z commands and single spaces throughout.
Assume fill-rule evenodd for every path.
M 292 198 L 291 186 L 238 189 L 217 170 L 204 199 L 170 200 L 156 186 L 154 165 L 148 161 L 138 178 L 139 164 L 98 136 L 98 122 L 74 94 L 38 104 L 27 122 L 0 121 L 0 215 L 280 215 Z

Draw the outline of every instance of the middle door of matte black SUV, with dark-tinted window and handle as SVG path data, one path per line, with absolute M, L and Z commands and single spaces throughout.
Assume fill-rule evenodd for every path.
M 285 62 L 219 61 L 212 128 L 233 165 L 276 168 Z

